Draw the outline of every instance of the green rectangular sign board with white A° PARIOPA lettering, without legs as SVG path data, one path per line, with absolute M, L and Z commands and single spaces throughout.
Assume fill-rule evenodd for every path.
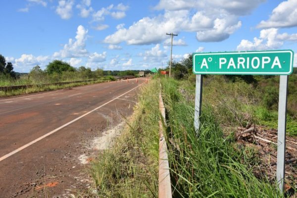
M 194 53 L 193 73 L 289 75 L 293 58 L 292 50 Z

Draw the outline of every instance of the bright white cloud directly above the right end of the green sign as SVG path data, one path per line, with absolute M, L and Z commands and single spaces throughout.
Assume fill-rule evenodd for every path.
M 263 29 L 260 31 L 259 38 L 255 37 L 253 41 L 242 40 L 237 46 L 237 50 L 278 49 L 282 47 L 286 41 L 297 42 L 297 34 L 279 34 L 277 28 Z

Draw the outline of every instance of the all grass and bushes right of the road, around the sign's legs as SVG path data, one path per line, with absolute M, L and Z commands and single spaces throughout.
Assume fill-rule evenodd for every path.
M 190 56 L 173 64 L 176 80 L 157 74 L 143 87 L 126 130 L 115 146 L 100 153 L 92 164 L 95 196 L 157 197 L 157 96 L 161 90 L 174 198 L 294 197 L 296 162 L 287 164 L 286 194 L 281 195 L 272 160 L 276 146 L 238 135 L 239 130 L 250 128 L 256 133 L 257 127 L 275 132 L 279 77 L 204 76 L 201 127 L 195 132 L 191 65 Z M 289 78 L 287 131 L 292 138 L 297 135 L 296 79 L 297 74 Z

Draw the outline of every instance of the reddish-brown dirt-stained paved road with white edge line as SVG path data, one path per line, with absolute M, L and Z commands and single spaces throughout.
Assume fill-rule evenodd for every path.
M 94 156 L 90 141 L 133 112 L 145 80 L 0 99 L 0 197 L 65 197 L 88 188 L 80 157 Z

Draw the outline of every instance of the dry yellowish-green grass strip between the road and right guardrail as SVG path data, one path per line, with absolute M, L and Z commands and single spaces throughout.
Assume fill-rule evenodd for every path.
M 97 197 L 157 197 L 158 89 L 143 87 L 134 115 L 112 149 L 99 155 L 90 174 Z

